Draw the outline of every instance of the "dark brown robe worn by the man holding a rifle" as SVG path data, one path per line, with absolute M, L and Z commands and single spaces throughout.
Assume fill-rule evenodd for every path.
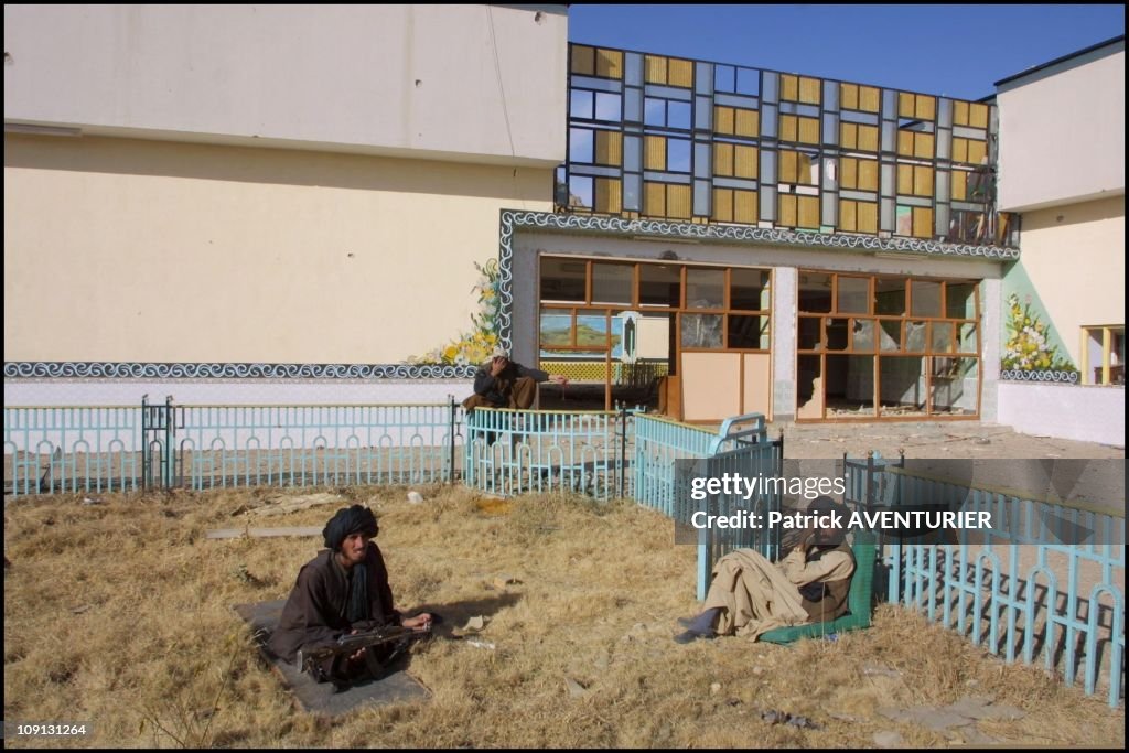
M 371 622 L 353 625 L 345 619 L 351 573 L 338 562 L 336 553 L 322 551 L 298 571 L 282 618 L 266 643 L 275 656 L 294 662 L 303 646 L 335 640 L 355 627 L 367 629 L 376 624 L 400 624 L 400 613 L 393 608 L 392 588 L 384 557 L 376 542 L 369 542 L 365 561 L 355 568 L 368 568 L 368 601 Z

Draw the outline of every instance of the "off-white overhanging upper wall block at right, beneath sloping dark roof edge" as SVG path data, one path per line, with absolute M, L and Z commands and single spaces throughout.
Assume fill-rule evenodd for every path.
M 1124 50 L 1041 75 L 1001 86 L 997 97 L 999 208 L 1123 195 Z

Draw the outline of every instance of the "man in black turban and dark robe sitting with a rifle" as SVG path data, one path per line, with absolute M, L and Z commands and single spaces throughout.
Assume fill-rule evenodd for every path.
M 373 541 L 379 527 L 367 507 L 343 507 L 325 524 L 325 551 L 298 571 L 298 580 L 282 608 L 279 627 L 268 641 L 278 657 L 294 662 L 303 647 L 332 642 L 343 633 L 377 625 L 428 630 L 432 615 L 404 619 L 395 610 L 388 571 Z M 379 671 L 388 646 L 364 648 L 352 656 L 324 662 L 315 675 L 323 680 L 364 678 Z

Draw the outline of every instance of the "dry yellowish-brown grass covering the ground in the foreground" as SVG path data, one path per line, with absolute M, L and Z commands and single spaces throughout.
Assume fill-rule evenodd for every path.
M 96 735 L 6 744 L 869 747 L 876 732 L 893 729 L 911 746 L 946 746 L 945 735 L 877 709 L 965 694 L 1025 711 L 980 723 L 1000 742 L 1124 741 L 1123 709 L 892 607 L 878 610 L 873 629 L 834 642 L 676 646 L 674 619 L 695 607 L 694 550 L 675 546 L 669 520 L 633 504 L 498 502 L 423 489 L 428 501 L 410 505 L 404 490 L 334 491 L 377 509 L 401 607 L 432 606 L 448 624 L 485 615 L 482 638 L 496 650 L 432 641 L 410 665 L 428 701 L 320 720 L 294 708 L 231 611 L 285 597 L 320 540 L 204 539 L 243 525 L 237 510 L 309 491 L 14 501 L 5 511 L 14 563 L 5 575 L 5 718 L 89 721 Z M 321 525 L 336 507 L 269 525 Z M 519 583 L 491 586 L 499 576 Z M 572 697 L 566 678 L 584 694 Z M 808 716 L 822 729 L 769 725 L 767 710 Z

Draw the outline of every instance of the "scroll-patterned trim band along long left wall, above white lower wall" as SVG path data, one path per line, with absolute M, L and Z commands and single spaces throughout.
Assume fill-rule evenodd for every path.
M 135 364 L 5 361 L 5 379 L 470 379 L 474 366 L 429 364 Z

